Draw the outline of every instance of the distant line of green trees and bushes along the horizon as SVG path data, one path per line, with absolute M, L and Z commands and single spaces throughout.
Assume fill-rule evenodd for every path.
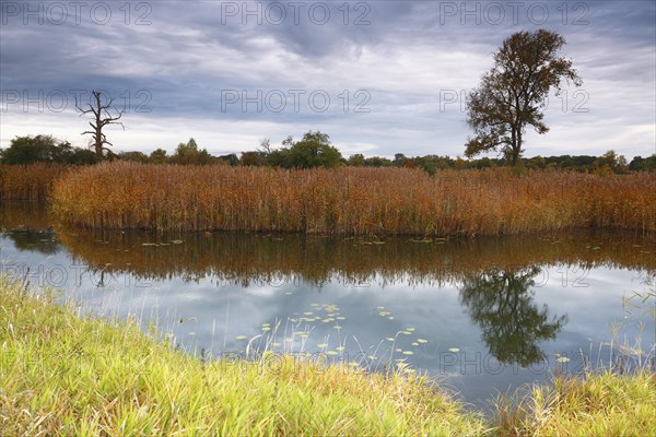
M 150 154 L 130 151 L 112 154 L 110 160 L 138 162 L 141 164 L 178 164 L 178 165 L 230 165 L 230 166 L 268 166 L 282 168 L 317 168 L 338 167 L 406 167 L 421 168 L 430 175 L 443 169 L 493 168 L 507 166 L 504 158 L 482 157 L 464 160 L 450 156 L 424 155 L 406 156 L 397 153 L 394 158 L 383 156 L 365 157 L 362 154 L 342 156 L 335 147 L 328 134 L 306 132 L 300 141 L 289 137 L 282 146 L 273 149 L 269 140 L 263 140 L 255 151 L 215 156 L 207 149 L 200 149 L 194 139 L 179 143 L 171 155 L 164 149 L 156 149 Z M 98 162 L 97 155 L 87 149 L 71 146 L 69 142 L 60 141 L 51 135 L 17 137 L 11 141 L 8 149 L 0 150 L 2 164 L 34 164 L 56 163 L 89 165 Z M 526 169 L 569 169 L 585 173 L 614 173 L 656 170 L 656 154 L 648 157 L 635 156 L 631 162 L 614 151 L 608 151 L 601 156 L 560 155 L 535 156 L 520 158 L 519 168 Z

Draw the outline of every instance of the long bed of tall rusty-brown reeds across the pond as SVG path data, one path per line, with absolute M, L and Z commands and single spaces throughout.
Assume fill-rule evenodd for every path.
M 507 169 L 285 170 L 112 163 L 55 184 L 54 211 L 92 228 L 332 235 L 656 231 L 656 178 Z

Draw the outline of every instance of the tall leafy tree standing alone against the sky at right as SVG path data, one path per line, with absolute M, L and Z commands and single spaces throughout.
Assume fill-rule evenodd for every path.
M 549 131 L 542 122 L 549 91 L 560 95 L 563 80 L 583 84 L 572 61 L 557 57 L 564 45 L 562 36 L 544 29 L 518 32 L 503 42 L 494 66 L 467 99 L 467 123 L 476 134 L 467 140 L 468 157 L 496 151 L 516 165 L 526 127 L 539 134 Z

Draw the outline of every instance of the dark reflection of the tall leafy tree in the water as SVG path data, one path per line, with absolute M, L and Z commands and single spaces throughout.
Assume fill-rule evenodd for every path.
M 465 279 L 460 303 L 481 329 L 481 338 L 502 364 L 529 366 L 544 358 L 539 343 L 553 340 L 566 315 L 549 317 L 535 303 L 538 267 L 519 271 L 492 270 Z

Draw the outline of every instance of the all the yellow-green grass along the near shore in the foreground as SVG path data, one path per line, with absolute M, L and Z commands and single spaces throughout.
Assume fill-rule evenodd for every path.
M 0 436 L 646 436 L 656 375 L 559 376 L 468 413 L 424 378 L 291 356 L 209 361 L 136 320 L 80 316 L 0 276 Z

